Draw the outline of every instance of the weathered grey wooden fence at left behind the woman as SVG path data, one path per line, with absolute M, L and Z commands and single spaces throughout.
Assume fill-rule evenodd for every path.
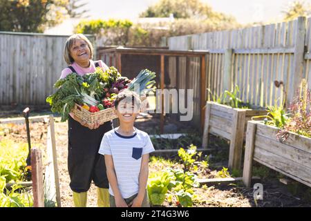
M 46 104 L 59 79 L 68 36 L 0 32 L 0 105 Z M 93 36 L 88 38 L 94 42 Z

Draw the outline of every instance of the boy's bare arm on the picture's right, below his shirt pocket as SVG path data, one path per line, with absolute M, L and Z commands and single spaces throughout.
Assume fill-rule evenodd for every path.
M 148 174 L 149 174 L 149 153 L 142 155 L 138 195 L 133 200 L 133 204 L 131 207 L 142 206 L 142 201 L 144 200 L 144 194 L 146 192 L 146 187 L 147 187 Z

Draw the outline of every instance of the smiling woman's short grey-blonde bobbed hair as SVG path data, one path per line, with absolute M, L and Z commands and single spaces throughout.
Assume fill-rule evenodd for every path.
M 64 59 L 66 61 L 67 64 L 73 64 L 73 57 L 71 57 L 70 55 L 70 48 L 73 46 L 73 44 L 75 44 L 75 40 L 76 39 L 82 39 L 86 42 L 86 44 L 88 45 L 88 48 L 90 48 L 90 59 L 93 59 L 93 46 L 91 44 L 91 41 L 88 40 L 88 38 L 83 35 L 83 34 L 75 34 L 75 35 L 71 35 L 70 37 L 68 37 L 68 39 L 66 40 L 66 44 L 64 47 Z

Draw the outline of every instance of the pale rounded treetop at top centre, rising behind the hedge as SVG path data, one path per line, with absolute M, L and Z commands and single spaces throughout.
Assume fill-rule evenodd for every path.
M 216 19 L 235 21 L 234 17 L 214 12 L 211 6 L 200 0 L 160 0 L 149 6 L 140 17 L 169 17 L 176 19 Z

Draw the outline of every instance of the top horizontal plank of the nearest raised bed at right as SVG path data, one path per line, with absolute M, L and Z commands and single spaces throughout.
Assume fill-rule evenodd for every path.
M 267 137 L 271 140 L 279 142 L 276 138 L 276 134 L 279 132 L 279 128 L 273 126 L 267 126 L 264 124 L 257 124 L 257 134 L 262 137 Z M 283 144 L 299 148 L 301 151 L 311 153 L 311 138 L 296 135 L 294 133 L 288 133 L 288 138 L 283 142 Z

